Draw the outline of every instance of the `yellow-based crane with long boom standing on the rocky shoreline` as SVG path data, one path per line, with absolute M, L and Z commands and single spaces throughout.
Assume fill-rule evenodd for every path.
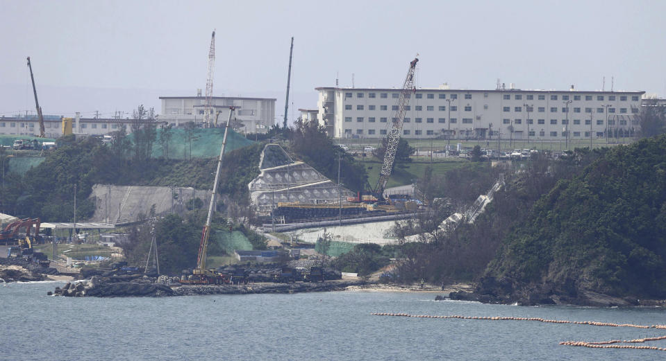
M 235 107 L 229 107 L 229 117 L 226 120 L 226 128 L 224 129 L 224 138 L 222 139 L 222 148 L 219 150 L 219 157 L 217 158 L 217 171 L 215 172 L 215 183 L 213 183 L 213 193 L 210 194 L 210 204 L 208 204 L 208 217 L 206 218 L 206 225 L 203 226 L 201 232 L 201 243 L 199 243 L 199 254 L 197 255 L 197 268 L 192 270 L 190 279 L 181 279 L 184 283 L 195 284 L 221 284 L 229 283 L 225 276 L 218 274 L 213 270 L 206 269 L 206 253 L 208 251 L 208 237 L 210 236 L 210 220 L 213 218 L 213 209 L 215 208 L 215 194 L 217 193 L 217 183 L 219 183 L 219 173 L 222 170 L 222 156 L 224 156 L 224 148 L 226 146 L 226 136 L 229 132 L 229 125 L 231 124 L 231 115 Z M 217 114 L 219 116 L 219 113 Z

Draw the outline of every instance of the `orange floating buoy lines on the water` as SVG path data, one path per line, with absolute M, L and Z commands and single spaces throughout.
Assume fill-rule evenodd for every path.
M 374 316 L 396 316 L 396 317 L 416 317 L 416 318 L 436 318 L 436 319 L 488 319 L 491 321 L 537 321 L 550 324 L 581 324 L 590 326 L 608 326 L 608 327 L 631 327 L 631 328 L 658 328 L 666 329 L 666 325 L 636 325 L 636 324 L 613 324 L 610 322 L 594 322 L 594 321 L 566 321 L 560 319 L 542 319 L 540 317 L 488 317 L 488 316 L 436 316 L 436 315 L 410 315 L 408 313 L 387 313 L 387 312 L 372 312 L 370 315 Z M 637 349 L 637 350 L 657 350 L 666 351 L 664 347 L 656 346 L 634 346 L 629 344 L 644 343 L 649 341 L 666 340 L 666 335 L 659 337 L 639 338 L 635 340 L 610 340 L 601 342 L 585 342 L 585 341 L 565 341 L 560 342 L 560 345 L 565 346 L 582 346 L 591 347 L 594 349 Z

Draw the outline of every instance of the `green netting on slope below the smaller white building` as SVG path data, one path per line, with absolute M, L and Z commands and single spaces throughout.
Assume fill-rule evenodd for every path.
M 153 144 L 153 158 L 166 157 L 169 159 L 190 159 L 192 158 L 215 158 L 219 155 L 219 149 L 222 148 L 222 139 L 224 138 L 224 128 L 195 128 L 192 130 L 192 142 L 190 145 L 190 131 L 185 129 L 172 129 L 171 139 L 165 142 L 164 151 L 160 141 L 163 130 L 157 130 L 157 137 Z M 129 134 L 128 139 L 134 143 L 134 135 Z M 232 150 L 243 148 L 253 144 L 241 134 L 229 130 L 226 137 L 225 153 Z M 191 149 L 191 152 L 190 152 Z M 166 153 L 166 154 L 165 154 Z

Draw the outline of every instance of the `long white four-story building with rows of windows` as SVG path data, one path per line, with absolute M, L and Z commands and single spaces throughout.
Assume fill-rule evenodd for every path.
M 317 119 L 334 138 L 391 130 L 400 89 L 318 87 Z M 564 140 L 631 137 L 644 91 L 416 89 L 405 138 Z

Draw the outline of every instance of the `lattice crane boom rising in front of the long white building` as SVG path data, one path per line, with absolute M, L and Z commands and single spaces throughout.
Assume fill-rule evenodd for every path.
M 377 186 L 375 187 L 377 196 L 379 198 L 383 198 L 386 182 L 388 182 L 388 177 L 391 176 L 393 162 L 395 161 L 395 152 L 398 149 L 398 143 L 400 142 L 400 132 L 402 132 L 402 125 L 403 121 L 405 120 L 407 105 L 409 105 L 409 99 L 412 95 L 411 93 L 416 90 L 414 87 L 414 71 L 416 69 L 417 62 L 419 62 L 419 58 L 414 58 L 414 60 L 409 63 L 409 70 L 407 71 L 405 82 L 402 85 L 402 90 L 400 91 L 400 96 L 396 103 L 398 109 L 394 113 L 395 116 L 393 117 L 393 127 L 391 129 L 391 133 L 388 134 L 386 152 L 384 153 L 384 162 L 379 172 Z

